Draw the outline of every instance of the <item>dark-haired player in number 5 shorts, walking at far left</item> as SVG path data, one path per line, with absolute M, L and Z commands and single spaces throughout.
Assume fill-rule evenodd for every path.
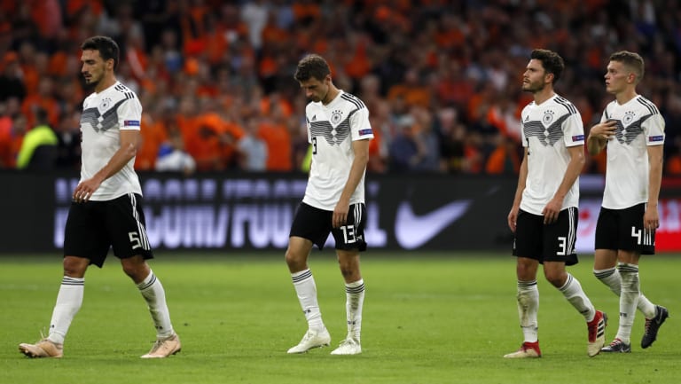
M 22 343 L 27 357 L 62 357 L 69 325 L 82 305 L 85 271 L 102 267 L 109 247 L 137 285 L 156 326 L 157 341 L 143 358 L 179 352 L 160 280 L 146 263 L 153 257 L 141 207 L 142 188 L 133 169 L 140 144 L 142 106 L 137 95 L 116 80 L 118 44 L 106 36 L 82 43 L 82 75 L 94 92 L 82 103 L 82 167 L 68 212 L 64 239 L 64 278 L 52 311 L 49 335 Z

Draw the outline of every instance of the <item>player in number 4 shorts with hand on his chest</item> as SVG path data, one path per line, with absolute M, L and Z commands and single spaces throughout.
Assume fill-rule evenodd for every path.
M 660 226 L 657 201 L 662 179 L 664 119 L 650 100 L 638 95 L 644 74 L 638 53 L 615 52 L 607 65 L 606 90 L 614 95 L 587 139 L 589 153 L 607 147 L 606 190 L 596 224 L 593 273 L 620 297 L 617 335 L 603 352 L 630 352 L 636 308 L 646 316 L 641 348 L 648 348 L 669 311 L 641 294 L 638 260 L 655 252 Z M 615 267 L 615 263 L 617 263 Z

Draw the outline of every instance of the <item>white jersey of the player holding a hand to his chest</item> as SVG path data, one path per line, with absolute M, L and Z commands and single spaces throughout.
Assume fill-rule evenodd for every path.
M 664 144 L 664 119 L 648 99 L 637 96 L 623 105 L 613 100 L 600 121 L 616 120 L 607 141 L 606 191 L 603 207 L 630 208 L 648 200 L 648 145 Z

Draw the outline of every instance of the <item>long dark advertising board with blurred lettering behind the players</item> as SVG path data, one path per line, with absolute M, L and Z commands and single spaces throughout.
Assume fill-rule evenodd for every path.
M 0 174 L 0 255 L 59 252 L 77 174 Z M 158 250 L 283 250 L 305 191 L 302 174 L 140 174 L 146 232 Z M 515 177 L 368 175 L 370 249 L 508 251 Z M 576 248 L 593 252 L 601 176 L 582 176 Z M 681 251 L 681 183 L 662 187 L 660 252 Z M 333 238 L 326 247 L 333 247 Z

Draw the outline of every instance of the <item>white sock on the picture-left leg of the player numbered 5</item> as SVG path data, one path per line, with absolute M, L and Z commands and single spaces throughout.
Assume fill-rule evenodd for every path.
M 57 303 L 52 310 L 48 340 L 57 344 L 64 344 L 68 327 L 71 326 L 75 314 L 81 309 L 84 292 L 85 278 L 69 278 L 67 276 L 62 278 L 59 294 L 57 294 Z

